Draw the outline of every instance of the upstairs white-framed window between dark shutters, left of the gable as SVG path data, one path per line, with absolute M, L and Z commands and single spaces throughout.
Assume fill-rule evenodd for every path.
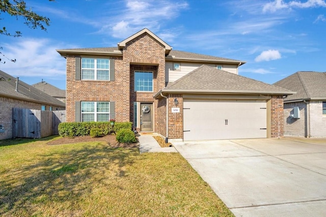
M 110 80 L 110 59 L 82 58 L 82 80 Z

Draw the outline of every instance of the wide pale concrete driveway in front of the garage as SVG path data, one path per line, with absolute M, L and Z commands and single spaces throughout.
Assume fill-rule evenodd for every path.
M 236 216 L 326 216 L 326 139 L 173 144 Z

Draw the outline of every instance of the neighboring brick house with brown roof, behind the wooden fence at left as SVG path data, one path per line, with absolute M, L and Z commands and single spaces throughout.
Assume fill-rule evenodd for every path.
M 12 108 L 65 110 L 65 103 L 0 70 L 0 140 L 12 138 Z

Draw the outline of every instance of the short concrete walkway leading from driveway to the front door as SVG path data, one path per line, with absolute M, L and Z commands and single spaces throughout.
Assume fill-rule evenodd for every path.
M 174 147 L 164 147 L 164 148 L 162 148 L 158 144 L 158 142 L 153 138 L 153 136 L 158 136 L 158 134 L 140 134 L 138 136 L 140 153 L 145 153 L 145 152 L 178 152 Z

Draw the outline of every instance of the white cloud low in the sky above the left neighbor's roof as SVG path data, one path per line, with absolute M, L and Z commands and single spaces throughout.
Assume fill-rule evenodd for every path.
M 1 70 L 15 76 L 57 77 L 66 75 L 66 61 L 56 51 L 57 42 L 47 39 L 15 39 L 15 43 L 3 44 L 2 53 L 16 63 L 6 60 Z

